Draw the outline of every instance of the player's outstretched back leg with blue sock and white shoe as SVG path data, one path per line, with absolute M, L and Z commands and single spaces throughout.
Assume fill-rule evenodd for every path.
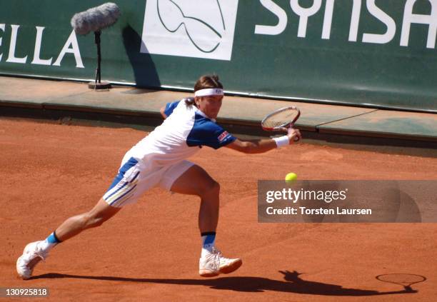
M 68 218 L 45 241 L 35 241 L 24 248 L 23 255 L 16 261 L 17 273 L 23 279 L 30 278 L 36 264 L 47 258 L 49 251 L 57 243 L 76 236 L 87 228 L 101 226 L 118 211 L 120 208 L 109 206 L 106 201 L 100 199 L 91 211 Z

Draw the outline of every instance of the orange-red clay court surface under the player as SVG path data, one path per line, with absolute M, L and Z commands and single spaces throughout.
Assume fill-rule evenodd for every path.
M 221 183 L 216 243 L 243 259 L 232 274 L 198 275 L 199 200 L 154 188 L 56 246 L 31 280 L 17 279 L 26 243 L 94 206 L 144 135 L 0 119 L 0 287 L 47 287 L 53 301 L 437 301 L 436 223 L 258 223 L 256 205 L 258 179 L 290 171 L 300 179 L 436 179 L 437 158 L 305 141 L 251 156 L 204 148 L 191 158 Z M 427 280 L 406 293 L 375 278 L 384 273 Z

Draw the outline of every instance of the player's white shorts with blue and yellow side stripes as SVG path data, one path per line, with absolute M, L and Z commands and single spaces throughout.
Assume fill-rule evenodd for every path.
M 169 166 L 156 166 L 153 161 L 138 161 L 124 158 L 114 182 L 104 194 L 104 201 L 110 206 L 121 208 L 135 203 L 149 188 L 161 186 L 170 191 L 174 181 L 194 163 L 180 161 Z

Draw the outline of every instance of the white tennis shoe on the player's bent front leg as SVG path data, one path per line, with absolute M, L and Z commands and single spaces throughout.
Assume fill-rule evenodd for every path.
M 236 271 L 243 261 L 240 258 L 230 259 L 223 257 L 217 248 L 206 253 L 199 260 L 199 275 L 202 277 L 214 277 L 220 273 L 232 273 Z

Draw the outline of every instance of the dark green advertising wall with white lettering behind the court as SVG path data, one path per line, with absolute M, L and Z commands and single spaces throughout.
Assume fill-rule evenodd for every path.
M 164 5 L 170 0 L 147 1 L 161 1 Z M 226 1 L 238 1 L 229 61 L 141 53 L 147 1 L 116 1 L 121 17 L 101 36 L 102 79 L 142 87 L 191 89 L 201 74 L 216 73 L 231 94 L 437 112 L 437 25 L 432 21 L 437 20 L 436 0 L 296 0 L 303 9 L 321 3 L 320 9 L 308 17 L 304 37 L 298 36 L 301 17 L 291 7 L 294 0 L 218 1 L 223 7 Z M 216 2 L 211 1 L 211 5 Z M 77 66 L 78 61 L 71 53 L 65 54 L 59 66 L 54 62 L 71 34 L 71 16 L 104 1 L 1 0 L 0 3 L 1 74 L 94 78 L 93 34 L 76 37 L 84 68 Z M 411 5 L 412 12 L 408 11 Z M 273 6 L 276 14 L 268 9 Z M 330 7 L 332 18 L 328 26 Z M 409 30 L 403 29 L 408 21 L 406 15 L 412 14 L 416 23 L 411 23 Z M 383 16 L 385 22 L 375 15 L 380 19 Z M 281 24 L 278 34 L 255 33 L 257 25 L 276 24 Z M 356 41 L 353 33 L 351 39 L 351 24 L 356 26 Z M 52 58 L 49 65 L 32 64 L 36 26 L 44 27 L 39 57 Z M 14 56 L 27 56 L 25 63 L 10 59 L 14 27 L 17 34 Z M 324 38 L 327 37 L 324 27 L 331 29 L 329 39 L 322 38 L 323 32 Z M 389 41 L 363 41 L 365 34 L 383 35 L 389 27 L 393 32 Z M 408 46 L 402 46 L 401 37 L 407 32 Z M 434 45 L 427 45 L 428 40 L 434 41 Z

